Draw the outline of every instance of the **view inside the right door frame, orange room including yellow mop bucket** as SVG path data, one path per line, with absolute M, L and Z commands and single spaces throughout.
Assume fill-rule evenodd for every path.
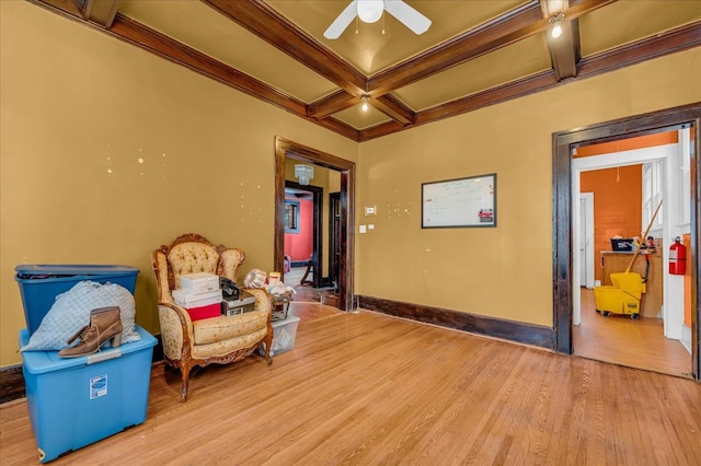
M 680 322 L 683 310 L 677 296 L 685 290 L 673 284 L 664 299 L 664 284 L 669 280 L 664 246 L 671 228 L 665 217 L 675 218 L 674 223 L 680 225 L 677 233 L 689 233 L 690 209 L 680 202 L 674 186 L 688 193 L 690 130 L 682 126 L 573 150 L 573 170 L 579 175 L 579 199 L 575 201 L 579 203 L 576 244 L 581 271 L 574 354 L 691 375 L 691 324 Z M 679 170 L 683 167 L 687 170 Z M 663 176 L 665 172 L 669 173 Z M 667 209 L 662 209 L 664 199 Z M 682 209 L 685 218 L 677 219 Z M 614 287 L 612 277 L 627 270 L 644 282 L 639 288 L 645 291 L 640 300 Z M 629 298 L 637 305 L 630 313 L 620 308 L 629 304 Z

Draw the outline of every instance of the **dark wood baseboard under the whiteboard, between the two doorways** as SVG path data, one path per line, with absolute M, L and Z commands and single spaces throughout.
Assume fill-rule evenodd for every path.
M 369 311 L 377 311 L 383 314 L 455 328 L 471 334 L 502 338 L 519 343 L 547 349 L 554 348 L 554 331 L 550 327 L 485 317 L 421 304 L 403 303 L 401 301 L 384 300 L 381 298 L 364 295 L 358 295 L 357 298 L 358 306 Z

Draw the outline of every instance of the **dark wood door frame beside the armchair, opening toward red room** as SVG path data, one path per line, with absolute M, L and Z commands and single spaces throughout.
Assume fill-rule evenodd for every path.
M 285 162 L 298 160 L 341 172 L 341 276 L 338 308 L 355 311 L 355 162 L 287 139 L 275 138 L 275 238 L 274 261 L 283 269 L 285 259 Z

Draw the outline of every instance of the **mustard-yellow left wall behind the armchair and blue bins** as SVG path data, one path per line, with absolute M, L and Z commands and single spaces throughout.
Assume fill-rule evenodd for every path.
M 0 1 L 0 365 L 21 362 L 19 264 L 140 269 L 181 233 L 273 266 L 275 137 L 356 160 L 358 145 L 84 25 Z M 142 160 L 142 163 L 139 162 Z M 110 173 L 108 171 L 112 171 Z

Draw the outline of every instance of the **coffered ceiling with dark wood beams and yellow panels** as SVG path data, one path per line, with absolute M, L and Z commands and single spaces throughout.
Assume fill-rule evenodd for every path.
M 356 141 L 701 45 L 701 0 L 406 0 L 426 33 L 386 12 L 333 40 L 350 0 L 30 1 Z

